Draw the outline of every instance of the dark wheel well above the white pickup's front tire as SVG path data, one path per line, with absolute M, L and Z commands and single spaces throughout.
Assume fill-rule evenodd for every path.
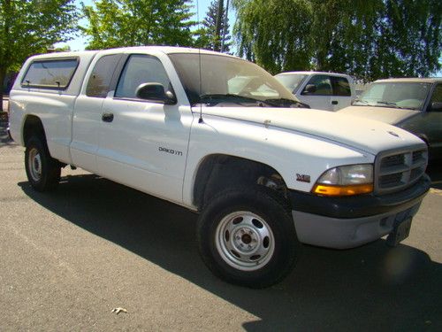
M 272 168 L 246 158 L 210 155 L 202 161 L 194 181 L 194 205 L 202 210 L 217 193 L 247 185 L 261 184 L 286 197 L 286 182 Z

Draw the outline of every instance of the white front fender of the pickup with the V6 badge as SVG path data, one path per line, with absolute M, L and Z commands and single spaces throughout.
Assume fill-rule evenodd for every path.
M 329 168 L 374 162 L 374 156 L 336 142 L 248 121 L 205 115 L 202 123 L 194 121 L 191 128 L 183 186 L 185 204 L 192 205 L 197 171 L 204 158 L 212 154 L 245 158 L 270 166 L 282 176 L 288 189 L 304 192 L 309 192 L 317 178 Z

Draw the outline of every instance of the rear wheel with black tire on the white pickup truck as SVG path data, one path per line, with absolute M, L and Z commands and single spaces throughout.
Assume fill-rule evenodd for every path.
M 27 180 L 37 191 L 50 191 L 57 188 L 61 166 L 57 159 L 50 157 L 50 151 L 41 136 L 33 136 L 27 141 L 25 151 Z

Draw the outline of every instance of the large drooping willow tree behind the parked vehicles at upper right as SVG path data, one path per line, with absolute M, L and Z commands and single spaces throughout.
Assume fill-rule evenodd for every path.
M 442 3 L 438 0 L 234 0 L 233 4 L 238 10 L 234 33 L 240 54 L 272 73 L 316 69 L 372 81 L 427 76 L 440 69 Z M 301 14 L 298 19 L 290 16 L 295 12 Z M 277 51 L 269 50 L 273 45 Z

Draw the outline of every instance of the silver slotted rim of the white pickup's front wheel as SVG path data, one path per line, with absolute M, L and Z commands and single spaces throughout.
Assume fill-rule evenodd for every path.
M 255 271 L 265 266 L 275 251 L 271 228 L 252 212 L 232 212 L 218 224 L 217 251 L 229 265 L 242 271 Z

